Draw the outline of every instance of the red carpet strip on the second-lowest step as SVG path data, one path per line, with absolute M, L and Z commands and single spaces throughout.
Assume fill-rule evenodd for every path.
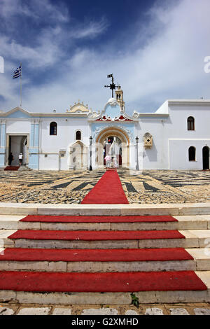
M 146 262 L 193 260 L 184 248 L 148 249 L 36 249 L 6 248 L 1 260 L 54 262 Z

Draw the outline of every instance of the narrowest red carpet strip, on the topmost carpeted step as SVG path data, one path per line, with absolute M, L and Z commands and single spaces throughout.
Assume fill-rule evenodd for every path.
M 29 215 L 21 222 L 41 223 L 152 223 L 178 222 L 172 216 L 36 216 Z

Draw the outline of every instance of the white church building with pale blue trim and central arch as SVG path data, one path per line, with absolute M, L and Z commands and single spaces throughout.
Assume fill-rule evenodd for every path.
M 34 170 L 100 169 L 111 155 L 116 167 L 209 169 L 210 100 L 171 99 L 154 113 L 125 111 L 123 90 L 101 112 L 78 101 L 64 113 L 0 112 L 0 167 Z M 113 164 L 112 164 L 113 165 Z

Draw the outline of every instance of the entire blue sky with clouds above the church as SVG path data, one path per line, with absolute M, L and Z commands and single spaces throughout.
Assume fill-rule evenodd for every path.
M 210 99 L 209 0 L 0 0 L 0 110 L 102 111 L 113 73 L 127 113 Z

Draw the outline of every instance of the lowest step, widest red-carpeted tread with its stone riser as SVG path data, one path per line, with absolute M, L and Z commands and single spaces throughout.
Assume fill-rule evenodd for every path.
M 132 304 L 132 297 L 137 298 L 140 304 L 210 302 L 210 272 L 194 273 L 201 279 L 199 283 L 197 282 L 198 290 L 193 286 L 190 287 L 192 282 L 190 275 L 194 275 L 193 273 L 190 271 L 137 272 L 135 276 L 132 272 L 131 275 L 126 273 L 123 276 L 121 273 L 116 277 L 111 273 L 111 276 L 106 274 L 104 280 L 102 276 L 97 280 L 96 274 L 89 273 L 92 275 L 90 280 L 90 276 L 85 279 L 85 273 L 80 278 L 76 273 L 73 277 L 72 273 L 61 273 L 62 276 L 59 273 L 52 276 L 51 273 L 49 276 L 49 273 L 44 272 L 1 272 L 0 302 L 125 305 Z M 164 274 L 169 275 L 167 279 Z M 183 286 L 179 286 L 180 278 L 183 280 Z M 120 287 L 116 280 L 120 282 Z M 81 286 L 77 281 L 82 283 Z M 102 283 L 102 286 L 99 286 L 99 283 Z M 115 291 L 112 291 L 113 286 L 116 287 Z

